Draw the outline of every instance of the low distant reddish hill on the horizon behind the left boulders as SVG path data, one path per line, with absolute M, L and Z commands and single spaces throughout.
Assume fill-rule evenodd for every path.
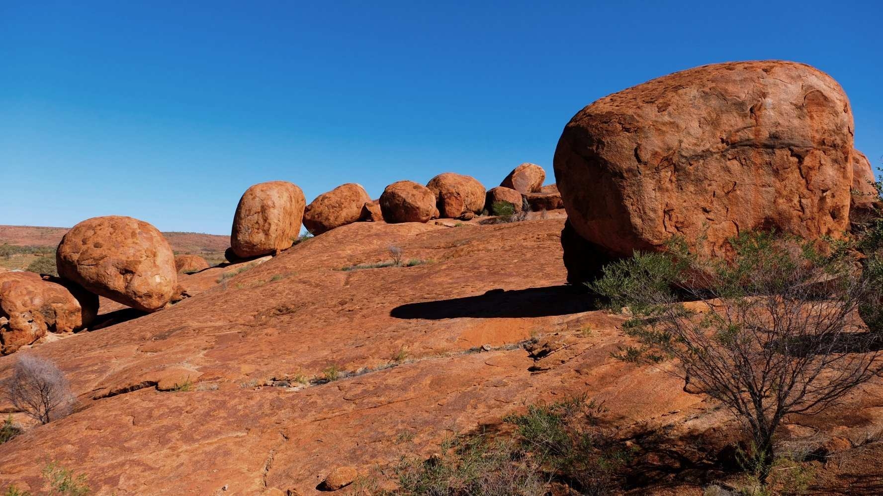
M 55 248 L 70 228 L 0 225 L 0 244 L 17 246 L 52 246 Z M 171 249 L 181 253 L 222 253 L 230 246 L 230 237 L 197 232 L 163 232 Z

